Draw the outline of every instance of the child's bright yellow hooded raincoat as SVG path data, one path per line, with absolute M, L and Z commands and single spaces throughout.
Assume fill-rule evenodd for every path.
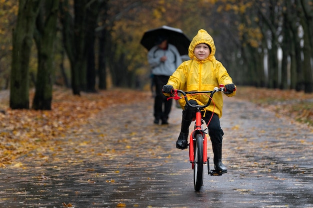
M 211 52 L 207 59 L 202 61 L 197 59 L 193 53 L 195 46 L 199 43 L 206 43 L 211 48 Z M 183 91 L 210 91 L 213 90 L 214 87 L 218 87 L 220 84 L 226 85 L 232 83 L 232 79 L 224 66 L 221 62 L 215 59 L 215 45 L 213 38 L 204 29 L 200 29 L 193 37 L 188 48 L 188 55 L 190 60 L 182 62 L 168 79 L 167 84 L 172 85 L 174 89 L 180 89 Z M 168 96 L 168 94 L 165 95 Z M 226 95 L 228 97 L 234 96 L 235 91 Z M 190 99 L 196 100 L 200 105 L 204 105 L 209 98 L 205 95 L 193 95 L 188 96 L 188 100 Z M 214 113 L 220 118 L 223 107 L 222 93 L 216 92 L 213 95 L 213 101 L 215 103 Z M 184 109 L 185 100 L 183 98 L 180 99 L 179 104 L 181 108 Z M 213 102 L 211 102 L 205 110 L 212 112 Z

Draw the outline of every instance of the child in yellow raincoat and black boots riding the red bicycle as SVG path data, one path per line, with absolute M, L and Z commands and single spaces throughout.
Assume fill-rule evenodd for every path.
M 197 34 L 193 37 L 188 48 L 188 55 L 190 60 L 181 63 L 169 77 L 167 84 L 163 86 L 162 92 L 164 95 L 168 96 L 173 89 L 183 91 L 210 91 L 220 84 L 224 85 L 226 89 L 224 93 L 228 97 L 235 95 L 236 86 L 232 83 L 231 77 L 221 62 L 215 59 L 213 38 L 204 29 L 198 30 Z M 190 96 L 192 104 L 198 103 L 199 105 L 204 105 L 208 99 L 208 96 L 205 95 Z M 220 127 L 219 118 L 222 115 L 222 94 L 215 93 L 213 101 L 215 108 L 212 119 L 208 124 L 208 135 L 212 143 L 215 170 L 223 174 L 227 173 L 227 168 L 221 162 L 222 136 L 224 133 Z M 176 148 L 183 150 L 187 148 L 188 130 L 195 115 L 195 108 L 186 106 L 184 99 L 179 99 L 179 104 L 183 111 L 181 130 L 176 142 Z M 211 117 L 210 112 L 213 112 L 213 102 L 202 113 L 206 124 Z

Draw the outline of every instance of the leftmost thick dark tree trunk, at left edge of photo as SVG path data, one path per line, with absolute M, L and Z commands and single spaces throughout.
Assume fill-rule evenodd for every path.
M 9 106 L 29 109 L 29 57 L 35 19 L 41 0 L 19 0 L 16 27 L 12 35 L 12 65 Z

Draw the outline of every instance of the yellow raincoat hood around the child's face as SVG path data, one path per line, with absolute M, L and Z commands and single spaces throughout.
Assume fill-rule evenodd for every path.
M 193 37 L 193 39 L 190 42 L 190 45 L 189 45 L 189 48 L 188 48 L 188 55 L 189 55 L 190 59 L 198 60 L 195 57 L 195 55 L 194 55 L 194 48 L 195 48 L 195 46 L 197 44 L 200 44 L 200 43 L 208 44 L 211 47 L 210 54 L 208 55 L 207 59 L 205 59 L 203 61 L 206 61 L 206 60 L 213 61 L 213 60 L 215 60 L 215 56 L 214 55 L 215 55 L 215 49 L 216 48 L 215 48 L 215 44 L 214 44 L 213 38 L 204 29 L 199 29 L 198 33 Z M 198 60 L 198 61 L 200 61 L 200 60 Z

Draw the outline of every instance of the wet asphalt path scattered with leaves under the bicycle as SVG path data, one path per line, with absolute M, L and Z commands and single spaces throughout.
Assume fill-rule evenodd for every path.
M 0 170 L 0 208 L 313 208 L 312 128 L 225 98 L 228 173 L 205 174 L 194 192 L 188 152 L 175 148 L 181 110 L 157 126 L 152 103 L 115 105 L 58 149 Z

